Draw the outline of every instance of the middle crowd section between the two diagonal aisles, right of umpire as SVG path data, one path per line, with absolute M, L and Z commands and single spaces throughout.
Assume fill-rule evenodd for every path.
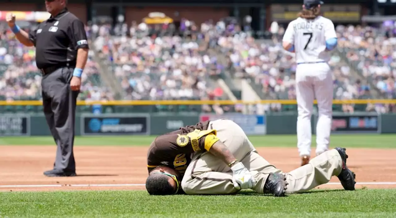
M 111 58 L 125 99 L 199 99 L 209 94 L 208 76 L 221 71 L 202 34 L 179 36 L 169 25 L 149 29 L 145 23 L 113 37 L 109 28 L 98 30 L 96 46 Z

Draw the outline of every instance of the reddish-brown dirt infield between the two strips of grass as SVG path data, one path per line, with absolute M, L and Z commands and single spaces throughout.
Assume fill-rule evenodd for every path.
M 48 178 L 43 172 L 51 169 L 55 150 L 55 146 L 0 146 L 0 191 L 144 189 L 140 184 L 144 184 L 147 177 L 147 147 L 79 146 L 74 149 L 78 176 Z M 263 147 L 258 151 L 285 172 L 300 164 L 297 148 Z M 396 188 L 396 149 L 350 148 L 347 154 L 348 167 L 356 173 L 357 182 L 392 182 L 362 184 L 357 188 Z M 333 177 L 330 182 L 338 183 L 339 180 Z M 103 186 L 105 184 L 109 186 Z M 327 184 L 317 188 L 342 187 Z

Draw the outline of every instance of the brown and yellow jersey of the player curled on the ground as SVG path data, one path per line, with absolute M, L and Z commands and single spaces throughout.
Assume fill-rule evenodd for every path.
M 158 136 L 147 152 L 148 172 L 157 166 L 168 166 L 177 170 L 183 177 L 192 154 L 209 151 L 212 145 L 219 141 L 216 134 L 216 130 L 209 126 L 209 121 L 205 121 Z

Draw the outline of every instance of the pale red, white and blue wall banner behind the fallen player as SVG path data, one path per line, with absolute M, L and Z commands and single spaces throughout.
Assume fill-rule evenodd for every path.
M 265 115 L 247 115 L 241 113 L 225 113 L 222 115 L 205 113 L 200 115 L 200 122 L 218 119 L 234 121 L 244 130 L 246 135 L 263 135 L 267 132 Z

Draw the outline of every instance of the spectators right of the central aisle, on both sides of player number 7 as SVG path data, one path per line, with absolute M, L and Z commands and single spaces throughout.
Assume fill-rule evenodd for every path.
M 255 40 L 246 33 L 221 36 L 218 45 L 229 58 L 234 76 L 250 78 L 258 84 L 265 98 L 295 99 L 295 55 L 282 48 L 285 29 L 276 25 L 272 40 Z M 346 51 L 333 52 L 329 65 L 333 72 L 335 99 L 368 99 L 373 97 L 369 84 L 374 84 L 380 98 L 396 98 L 396 38 L 393 28 L 374 29 L 360 26 L 337 26 L 339 46 Z M 375 43 L 373 43 L 375 41 Z M 356 66 L 356 68 L 354 68 Z M 355 71 L 356 73 L 352 72 Z M 364 76 L 360 78 L 358 75 Z M 342 105 L 345 112 L 362 110 L 362 105 Z M 386 113 L 394 105 L 367 105 L 363 110 Z

